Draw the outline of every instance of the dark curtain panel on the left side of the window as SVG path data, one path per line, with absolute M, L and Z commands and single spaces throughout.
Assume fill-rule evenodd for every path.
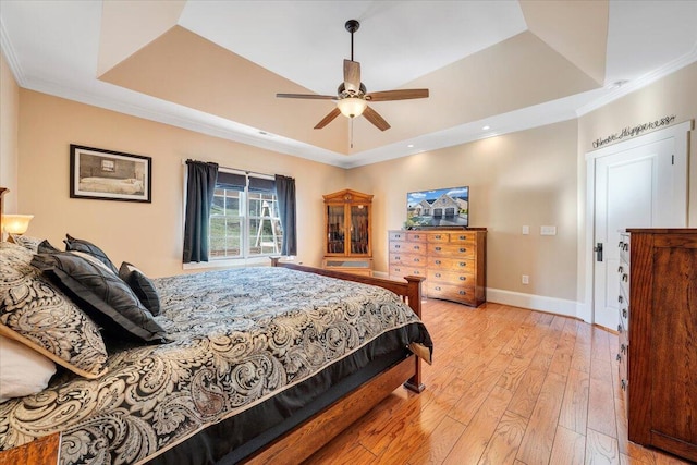
M 218 164 L 186 160 L 184 262 L 208 261 L 208 217 L 216 192 Z

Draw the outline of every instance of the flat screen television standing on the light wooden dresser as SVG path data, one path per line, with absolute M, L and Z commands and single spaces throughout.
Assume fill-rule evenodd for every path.
M 467 228 L 468 225 L 468 186 L 406 194 L 407 228 Z

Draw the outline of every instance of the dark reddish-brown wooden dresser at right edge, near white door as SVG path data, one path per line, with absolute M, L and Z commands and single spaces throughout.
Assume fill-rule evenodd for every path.
M 697 229 L 621 237 L 617 358 L 629 440 L 697 462 Z

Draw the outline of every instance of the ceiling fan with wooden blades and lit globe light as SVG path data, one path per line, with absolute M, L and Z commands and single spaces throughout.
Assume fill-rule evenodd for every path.
M 351 33 L 351 60 L 344 60 L 344 82 L 339 85 L 337 96 L 315 94 L 277 94 L 276 96 L 281 98 L 335 100 L 337 108 L 317 123 L 316 130 L 321 130 L 339 114 L 344 114 L 352 119 L 363 114 L 366 120 L 380 131 L 389 130 L 388 122 L 370 108 L 368 102 L 426 98 L 428 97 L 428 89 L 383 90 L 368 94 L 366 86 L 360 82 L 360 63 L 353 61 L 353 34 L 358 30 L 360 23 L 356 20 L 348 20 L 345 27 Z

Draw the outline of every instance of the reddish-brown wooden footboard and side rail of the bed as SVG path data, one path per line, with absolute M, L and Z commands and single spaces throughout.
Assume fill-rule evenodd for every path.
M 0 215 L 2 215 L 3 211 L 2 196 L 8 192 L 9 189 L 0 187 Z M 0 237 L 0 240 L 2 240 L 2 237 Z M 274 267 L 290 268 L 384 287 L 400 295 L 414 313 L 419 318 L 421 317 L 421 281 L 424 281 L 424 278 L 405 277 L 405 282 L 399 282 L 282 262 L 279 258 L 272 258 L 271 262 Z M 277 439 L 268 446 L 261 449 L 244 463 L 259 465 L 268 463 L 301 463 L 335 438 L 351 424 L 368 413 L 374 406 L 382 402 L 382 400 L 398 389 L 400 384 L 403 384 L 406 389 L 416 393 L 425 389 L 421 383 L 420 360 L 417 356 L 411 355 L 388 368 L 386 371 L 382 371 L 358 387 L 358 389 L 352 391 L 341 400 L 308 418 L 298 427 Z M 34 444 L 34 442 L 30 444 Z M 58 442 L 56 444 L 58 444 Z M 56 445 L 53 450 L 57 452 L 58 445 Z M 5 457 L 9 456 L 5 455 Z

